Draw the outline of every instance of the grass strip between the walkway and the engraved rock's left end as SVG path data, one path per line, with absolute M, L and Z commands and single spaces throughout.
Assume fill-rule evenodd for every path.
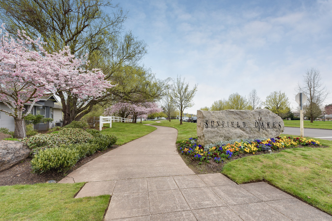
M 162 121 L 161 123 L 155 123 L 153 125 L 176 128 L 178 130 L 177 143 L 188 138 L 197 137 L 196 123 L 183 122 L 183 124 L 180 125 L 179 120 L 171 120 L 171 122 Z

